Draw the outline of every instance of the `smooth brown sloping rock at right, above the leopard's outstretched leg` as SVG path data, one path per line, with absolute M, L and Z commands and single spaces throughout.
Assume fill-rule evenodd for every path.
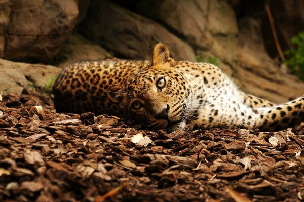
M 264 48 L 261 21 L 244 17 L 239 21 L 239 68 L 241 88 L 258 97 L 283 103 L 304 94 L 304 83 L 280 70 Z

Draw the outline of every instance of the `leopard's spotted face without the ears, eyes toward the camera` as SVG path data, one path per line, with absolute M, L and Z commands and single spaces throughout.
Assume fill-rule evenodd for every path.
M 137 122 L 154 128 L 176 130 L 185 125 L 185 99 L 189 87 L 175 67 L 152 66 L 133 77 L 127 110 Z

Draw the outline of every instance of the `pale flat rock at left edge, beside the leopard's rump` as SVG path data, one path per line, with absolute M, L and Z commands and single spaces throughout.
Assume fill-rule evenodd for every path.
M 0 91 L 21 93 L 23 88 L 44 86 L 54 80 L 60 68 L 0 59 Z

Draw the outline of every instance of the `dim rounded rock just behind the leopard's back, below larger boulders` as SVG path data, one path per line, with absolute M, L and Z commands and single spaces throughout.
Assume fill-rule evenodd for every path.
M 111 55 L 98 44 L 79 33 L 71 34 L 54 59 L 54 64 L 64 67 L 81 60 L 99 60 Z

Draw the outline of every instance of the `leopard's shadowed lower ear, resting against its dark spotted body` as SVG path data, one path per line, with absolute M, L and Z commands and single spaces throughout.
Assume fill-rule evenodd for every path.
M 115 103 L 118 103 L 121 108 L 125 108 L 128 99 L 128 92 L 123 85 L 111 85 L 106 90 L 107 97 Z

